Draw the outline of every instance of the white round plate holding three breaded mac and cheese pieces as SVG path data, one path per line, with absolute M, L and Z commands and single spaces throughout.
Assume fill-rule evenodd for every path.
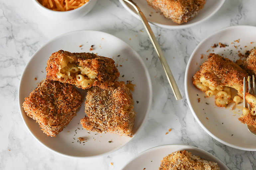
M 80 45 L 82 46 L 79 47 Z M 90 51 L 91 45 L 94 45 L 94 50 L 92 51 Z M 29 96 L 29 93 L 37 87 L 37 84 L 46 77 L 45 67 L 47 60 L 53 52 L 60 49 L 70 52 L 94 52 L 101 56 L 113 58 L 118 64 L 119 81 L 126 82 L 130 80 L 136 85 L 134 91 L 132 91 L 134 110 L 137 113 L 133 128 L 133 138 L 146 121 L 152 103 L 152 84 L 148 70 L 139 54 L 124 41 L 113 35 L 100 31 L 80 30 L 54 38 L 37 50 L 27 64 L 21 77 L 18 98 L 21 116 L 28 130 L 50 150 L 70 157 L 99 156 L 121 148 L 132 138 L 109 133 L 87 133 L 86 130 L 82 129 L 80 119 L 85 115 L 84 100 L 77 115 L 55 138 L 47 137 L 40 130 L 38 123 L 25 114 L 22 108 L 24 98 Z M 37 81 L 35 81 L 35 77 Z M 84 98 L 85 90 L 80 91 Z M 78 137 L 87 139 L 87 142 L 77 142 Z

